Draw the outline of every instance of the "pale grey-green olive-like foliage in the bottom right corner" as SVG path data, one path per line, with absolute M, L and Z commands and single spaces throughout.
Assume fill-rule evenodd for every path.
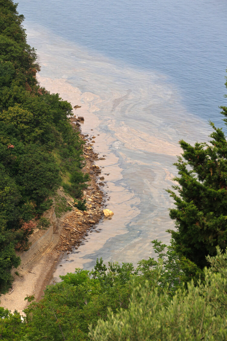
M 89 337 L 97 341 L 123 340 L 226 340 L 227 252 L 208 257 L 205 282 L 179 288 L 174 297 L 168 290 L 158 294 L 156 285 L 133 289 L 127 310 L 109 310 L 107 321 L 99 320 Z M 157 285 L 159 277 L 157 277 Z

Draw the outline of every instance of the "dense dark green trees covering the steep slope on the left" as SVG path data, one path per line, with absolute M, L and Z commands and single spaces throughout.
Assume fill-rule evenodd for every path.
M 37 83 L 37 56 L 16 8 L 0 0 L 0 291 L 54 191 L 62 184 L 80 197 L 88 179 L 80 171 L 82 142 L 68 121 L 71 105 Z

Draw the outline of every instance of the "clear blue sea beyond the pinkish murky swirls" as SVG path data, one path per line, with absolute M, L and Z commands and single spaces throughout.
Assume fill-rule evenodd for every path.
M 18 9 L 29 22 L 73 43 L 164 73 L 191 113 L 221 124 L 224 0 L 21 0 Z

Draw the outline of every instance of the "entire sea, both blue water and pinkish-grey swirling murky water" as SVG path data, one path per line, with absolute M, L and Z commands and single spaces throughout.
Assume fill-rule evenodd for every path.
M 92 233 L 56 272 L 152 255 L 166 242 L 178 140 L 207 140 L 208 119 L 222 125 L 226 103 L 227 14 L 222 0 L 21 0 L 41 84 L 81 104 L 83 132 L 108 180 L 112 220 Z

